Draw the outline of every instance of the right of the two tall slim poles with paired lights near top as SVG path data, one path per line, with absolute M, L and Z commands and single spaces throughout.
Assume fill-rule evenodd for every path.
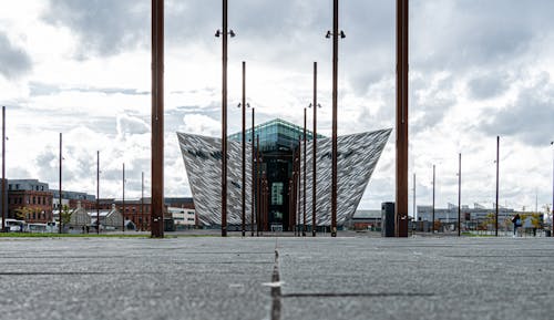
M 339 0 L 332 1 L 332 158 L 331 158 L 331 237 L 337 237 L 337 78 L 339 55 Z

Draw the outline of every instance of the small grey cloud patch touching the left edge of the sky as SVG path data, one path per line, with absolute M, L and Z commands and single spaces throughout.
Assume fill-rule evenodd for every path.
M 32 69 L 29 54 L 14 47 L 4 33 L 0 32 L 0 74 L 7 79 L 16 79 Z

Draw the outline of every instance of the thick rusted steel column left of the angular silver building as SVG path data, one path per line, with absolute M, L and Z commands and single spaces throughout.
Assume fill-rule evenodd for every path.
M 164 0 L 152 0 L 151 235 L 164 237 Z

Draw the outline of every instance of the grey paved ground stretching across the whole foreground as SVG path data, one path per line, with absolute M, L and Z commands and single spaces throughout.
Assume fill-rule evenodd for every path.
M 0 238 L 0 319 L 554 319 L 554 238 Z

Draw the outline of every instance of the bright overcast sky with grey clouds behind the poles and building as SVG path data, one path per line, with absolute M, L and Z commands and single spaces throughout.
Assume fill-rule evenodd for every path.
M 167 0 L 165 195 L 189 196 L 176 131 L 220 136 L 222 1 Z M 7 176 L 101 197 L 140 197 L 150 186 L 150 0 L 21 0 L 0 11 L 0 104 L 7 106 Z M 339 135 L 394 126 L 392 0 L 340 1 Z M 431 204 L 492 207 L 496 135 L 500 204 L 552 203 L 554 1 L 410 1 L 410 189 Z M 229 0 L 229 133 L 240 130 L 240 63 L 257 120 L 302 123 L 319 73 L 319 131 L 330 135 L 331 0 Z M 311 122 L 311 118 L 308 118 Z M 146 195 L 150 195 L 147 188 Z M 394 199 L 394 132 L 361 200 Z M 410 190 L 411 213 L 412 190 Z

